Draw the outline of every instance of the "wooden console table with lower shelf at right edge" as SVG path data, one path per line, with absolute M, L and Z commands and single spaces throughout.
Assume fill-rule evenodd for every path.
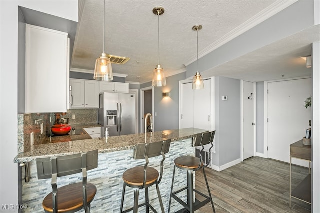
M 311 145 L 303 145 L 302 140 L 290 145 L 290 208 L 292 197 L 311 204 L 311 150 Z M 293 190 L 291 190 L 292 158 L 306 160 L 309 162 L 309 174 Z

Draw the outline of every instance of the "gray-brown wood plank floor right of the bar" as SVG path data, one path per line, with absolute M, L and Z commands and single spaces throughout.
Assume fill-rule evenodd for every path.
M 215 211 L 218 212 L 310 212 L 311 205 L 292 198 L 289 208 L 288 163 L 251 157 L 217 172 L 205 169 Z M 292 188 L 308 174 L 308 168 L 292 165 Z M 196 189 L 206 191 L 203 173 L 196 172 Z M 197 196 L 198 198 L 198 196 Z M 213 212 L 211 204 L 197 213 Z

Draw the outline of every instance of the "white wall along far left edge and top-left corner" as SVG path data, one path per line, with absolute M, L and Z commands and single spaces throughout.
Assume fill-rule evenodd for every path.
M 0 1 L 0 208 L 18 212 L 17 155 L 17 56 L 18 6 L 78 21 L 78 1 Z M 2 205 L 7 208 L 2 209 Z

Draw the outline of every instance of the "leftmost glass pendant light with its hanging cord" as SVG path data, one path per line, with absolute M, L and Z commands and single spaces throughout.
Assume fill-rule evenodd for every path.
M 94 80 L 110 81 L 113 80 L 112 66 L 110 59 L 106 56 L 104 52 L 104 41 L 105 36 L 105 0 L 103 1 L 103 53 L 96 59 L 94 67 Z

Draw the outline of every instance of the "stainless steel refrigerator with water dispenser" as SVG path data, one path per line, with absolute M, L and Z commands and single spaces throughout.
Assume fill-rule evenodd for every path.
M 104 92 L 99 95 L 98 123 L 109 136 L 135 134 L 135 94 Z

